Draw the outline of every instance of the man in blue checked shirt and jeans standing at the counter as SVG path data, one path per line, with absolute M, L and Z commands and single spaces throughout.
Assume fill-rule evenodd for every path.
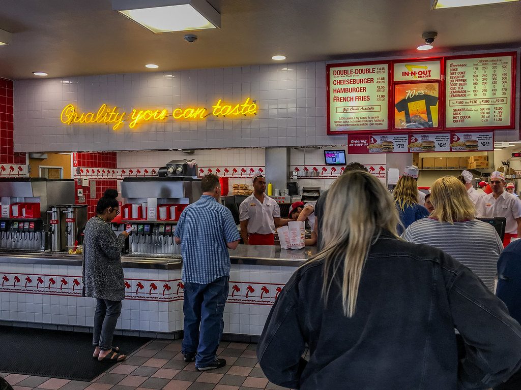
M 187 206 L 175 231 L 181 243 L 184 283 L 184 361 L 195 361 L 198 371 L 226 365 L 217 358 L 217 347 L 224 329 L 222 314 L 228 298 L 230 255 L 240 236 L 233 216 L 220 204 L 219 177 L 201 180 L 201 199 Z

